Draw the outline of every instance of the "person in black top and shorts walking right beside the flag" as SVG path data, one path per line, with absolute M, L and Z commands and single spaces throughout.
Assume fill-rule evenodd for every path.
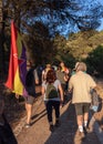
M 32 115 L 32 106 L 35 99 L 35 84 L 39 84 L 39 76 L 37 70 L 32 66 L 32 64 L 27 65 L 27 76 L 25 76 L 25 90 L 28 92 L 28 96 L 24 96 L 25 100 L 25 110 L 27 110 L 27 123 L 25 127 L 31 126 L 31 115 Z

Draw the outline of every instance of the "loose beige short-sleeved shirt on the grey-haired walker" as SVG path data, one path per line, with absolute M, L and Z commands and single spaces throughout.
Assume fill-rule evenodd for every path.
M 89 74 L 80 71 L 70 79 L 69 84 L 73 85 L 73 103 L 91 102 L 90 90 L 95 83 Z

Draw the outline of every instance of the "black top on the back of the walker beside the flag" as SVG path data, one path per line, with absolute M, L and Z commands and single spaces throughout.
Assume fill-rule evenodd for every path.
M 25 78 L 25 90 L 31 96 L 35 96 L 35 81 L 34 81 L 33 71 L 34 69 L 30 69 Z

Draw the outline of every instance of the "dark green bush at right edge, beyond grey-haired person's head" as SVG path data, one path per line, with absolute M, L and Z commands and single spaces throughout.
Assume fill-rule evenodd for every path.
M 99 45 L 86 58 L 89 72 L 92 74 L 103 74 L 103 47 Z

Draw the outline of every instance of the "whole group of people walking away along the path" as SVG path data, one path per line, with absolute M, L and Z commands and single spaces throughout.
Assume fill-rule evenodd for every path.
M 33 80 L 34 83 L 39 83 L 35 70 L 33 71 Z M 90 91 L 92 89 L 96 90 L 96 83 L 92 76 L 86 73 L 86 64 L 84 62 L 76 62 L 71 74 L 64 62 L 61 62 L 56 70 L 54 70 L 51 64 L 47 64 L 45 69 L 42 71 L 41 93 L 45 104 L 49 128 L 51 132 L 54 131 L 55 126 L 60 126 L 60 106 L 63 104 L 66 96 L 65 92 L 68 91 L 72 93 L 72 103 L 75 107 L 79 133 L 82 136 L 84 135 L 84 132 L 87 130 L 91 105 Z M 27 127 L 30 126 L 33 102 L 34 96 L 29 94 L 29 96 L 25 97 L 28 114 Z M 53 109 L 55 111 L 55 123 L 52 117 Z

